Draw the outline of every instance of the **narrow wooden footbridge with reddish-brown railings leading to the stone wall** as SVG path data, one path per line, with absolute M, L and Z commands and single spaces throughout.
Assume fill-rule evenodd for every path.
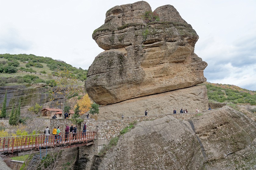
M 51 148 L 55 146 L 65 146 L 65 148 L 85 146 L 93 144 L 95 139 L 95 132 L 86 132 L 86 137 L 83 137 L 83 132 L 76 133 L 73 138 L 73 134 L 65 133 L 60 135 L 51 134 L 46 140 L 44 134 L 27 135 L 27 136 L 10 136 L 0 138 L 0 154 L 22 152 L 28 150 L 39 150 L 41 148 Z

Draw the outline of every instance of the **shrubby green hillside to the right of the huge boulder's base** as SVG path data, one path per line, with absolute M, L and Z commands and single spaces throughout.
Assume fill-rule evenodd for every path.
M 256 105 L 256 91 L 240 88 L 235 85 L 202 83 L 207 87 L 209 100 L 217 102 L 231 102 L 234 104 Z

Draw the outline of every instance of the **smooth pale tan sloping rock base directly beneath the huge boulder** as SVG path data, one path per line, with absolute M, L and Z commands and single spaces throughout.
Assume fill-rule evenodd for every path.
M 108 104 L 99 108 L 99 120 L 118 120 L 122 114 L 128 116 L 143 116 L 148 110 L 148 115 L 170 114 L 173 109 L 180 113 L 185 108 L 189 112 L 208 110 L 208 96 L 205 86 L 193 86 L 180 90 L 173 90 L 161 94 L 137 97 L 116 104 Z

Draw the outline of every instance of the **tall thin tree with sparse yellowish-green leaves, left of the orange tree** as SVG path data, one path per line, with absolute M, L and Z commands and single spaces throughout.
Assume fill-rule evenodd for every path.
M 57 86 L 59 87 L 59 93 L 61 93 L 63 98 L 63 105 L 62 110 L 64 111 L 64 106 L 67 105 L 67 99 L 69 96 L 73 96 L 73 93 L 75 93 L 74 84 L 76 82 L 75 78 L 71 76 L 71 73 L 69 70 L 60 70 L 58 71 L 58 79 L 56 81 Z M 62 113 L 62 118 L 64 117 L 64 114 Z

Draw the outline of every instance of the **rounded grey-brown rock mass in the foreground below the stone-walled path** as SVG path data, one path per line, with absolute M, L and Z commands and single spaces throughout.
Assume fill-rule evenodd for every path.
M 119 138 L 98 169 L 255 169 L 255 122 L 232 108 L 189 121 L 144 121 Z

